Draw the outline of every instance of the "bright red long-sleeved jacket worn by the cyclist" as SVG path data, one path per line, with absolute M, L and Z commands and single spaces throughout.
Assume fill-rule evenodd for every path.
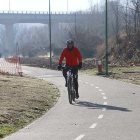
M 72 51 L 69 51 L 68 48 L 64 48 L 60 56 L 59 64 L 62 64 L 64 58 L 66 59 L 66 64 L 69 66 L 77 66 L 78 60 L 79 63 L 82 62 L 82 56 L 77 47 L 74 47 Z

